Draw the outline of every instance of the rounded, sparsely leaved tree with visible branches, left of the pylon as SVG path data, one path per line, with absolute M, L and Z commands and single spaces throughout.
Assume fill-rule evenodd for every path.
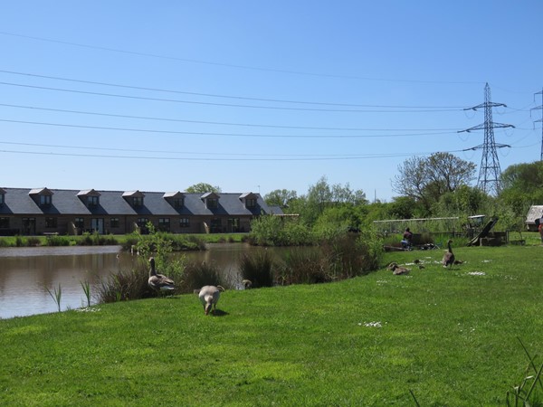
M 392 186 L 396 193 L 413 198 L 431 213 L 432 205 L 446 193 L 454 192 L 461 185 L 469 185 L 474 179 L 475 164 L 450 153 L 434 153 L 432 156 L 414 156 L 398 166 Z

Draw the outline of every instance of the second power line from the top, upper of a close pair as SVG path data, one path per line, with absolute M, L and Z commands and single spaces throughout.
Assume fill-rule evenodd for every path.
M 49 80 L 65 80 L 65 81 L 71 81 L 71 82 L 77 82 L 77 83 L 86 83 L 86 84 L 91 84 L 91 85 L 110 86 L 110 87 L 133 89 L 133 90 L 150 90 L 150 91 L 156 91 L 156 92 L 177 93 L 177 94 L 192 95 L 192 96 L 205 96 L 208 98 L 243 99 L 243 100 L 253 100 L 253 101 L 274 102 L 274 103 L 293 103 L 293 104 L 318 105 L 318 106 L 342 106 L 342 107 L 375 108 L 375 109 L 452 109 L 452 110 L 462 109 L 461 106 L 402 106 L 402 105 L 393 106 L 393 105 L 367 105 L 367 104 L 353 104 L 353 103 L 316 102 L 316 101 L 305 101 L 305 100 L 301 101 L 301 100 L 288 100 L 288 99 L 249 98 L 249 97 L 244 97 L 244 96 L 219 95 L 215 93 L 189 92 L 185 90 L 165 90 L 165 89 L 148 88 L 148 87 L 142 87 L 142 86 L 121 85 L 118 83 L 99 82 L 99 81 L 94 81 L 94 80 L 76 80 L 76 79 L 71 79 L 71 78 L 39 75 L 39 74 L 27 73 L 27 72 L 5 71 L 5 70 L 0 70 L 0 72 L 14 74 L 14 75 L 30 76 L 34 78 L 49 79 Z M 445 111 L 448 111 L 448 110 L 445 110 Z

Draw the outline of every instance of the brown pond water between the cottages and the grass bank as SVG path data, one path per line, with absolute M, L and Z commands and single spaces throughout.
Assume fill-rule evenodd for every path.
M 207 251 L 185 253 L 188 260 L 214 262 L 233 285 L 241 284 L 238 261 L 245 252 L 262 250 L 244 243 L 216 243 Z M 87 298 L 81 281 L 100 284 L 117 270 L 129 270 L 138 256 L 119 246 L 0 248 L 0 318 L 55 312 L 52 292 L 62 287 L 61 309 L 81 308 Z M 95 304 L 91 298 L 91 304 Z

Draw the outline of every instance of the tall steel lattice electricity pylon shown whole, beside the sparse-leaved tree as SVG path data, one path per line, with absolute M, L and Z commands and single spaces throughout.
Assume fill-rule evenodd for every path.
M 498 106 L 507 106 L 503 103 L 491 102 L 491 87 L 487 83 L 484 87 L 484 103 L 481 105 L 473 106 L 464 110 L 477 110 L 484 108 L 484 123 L 468 128 L 463 131 L 471 132 L 472 130 L 481 130 L 484 128 L 484 142 L 479 146 L 466 148 L 466 150 L 477 150 L 482 148 L 481 166 L 479 168 L 479 178 L 477 179 L 477 186 L 486 194 L 500 194 L 501 191 L 501 168 L 500 160 L 498 159 L 497 148 L 510 147 L 507 144 L 499 144 L 494 141 L 494 128 L 514 128 L 513 125 L 494 123 L 492 121 L 492 108 Z

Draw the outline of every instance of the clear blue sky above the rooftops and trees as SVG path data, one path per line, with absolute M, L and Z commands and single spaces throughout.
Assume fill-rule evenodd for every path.
M 390 201 L 398 165 L 541 152 L 540 1 L 18 1 L 0 15 L 0 186 Z M 478 175 L 478 173 L 476 174 Z M 475 180 L 476 181 L 476 180 Z M 474 184 L 475 184 L 474 181 Z

